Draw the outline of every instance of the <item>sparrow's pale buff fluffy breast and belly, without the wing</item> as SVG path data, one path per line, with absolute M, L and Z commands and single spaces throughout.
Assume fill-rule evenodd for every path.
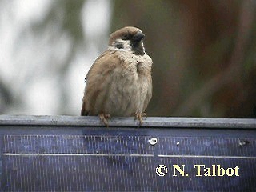
M 130 116 L 142 112 L 147 94 L 152 90 L 152 60 L 148 55 L 137 56 L 125 52 L 119 54 L 118 58 L 121 62 L 114 69 L 106 110 L 113 115 Z

